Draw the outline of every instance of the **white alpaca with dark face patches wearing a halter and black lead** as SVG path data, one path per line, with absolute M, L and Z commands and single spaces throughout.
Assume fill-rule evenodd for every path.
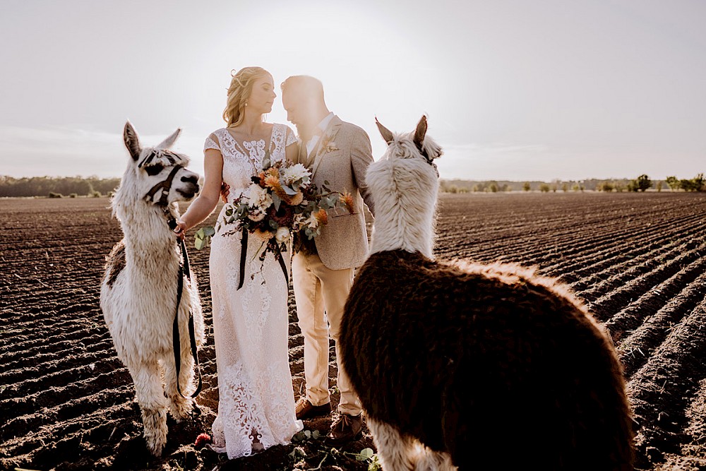
M 126 123 L 124 141 L 131 159 L 112 198 L 124 238 L 106 258 L 100 290 L 100 307 L 118 357 L 135 383 L 145 441 L 155 456 L 167 443 L 167 407 L 177 420 L 188 417 L 194 407 L 189 398 L 196 389 L 190 314 L 197 345 L 204 340 L 201 301 L 192 274 L 191 280 L 184 277 L 178 306 L 182 395 L 172 347 L 181 251 L 167 221 L 179 217 L 178 201 L 189 201 L 198 192 L 198 175 L 184 168 L 188 157 L 169 151 L 180 132 L 177 129 L 154 148 L 140 148 L 136 131 Z

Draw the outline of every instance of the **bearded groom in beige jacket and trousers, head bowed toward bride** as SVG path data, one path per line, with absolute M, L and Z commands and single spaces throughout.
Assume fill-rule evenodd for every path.
M 297 126 L 301 140 L 298 160 L 311 170 L 313 183 L 321 189 L 324 181 L 328 181 L 326 186 L 331 191 L 349 191 L 354 198 L 353 214 L 330 213 L 328 224 L 321 227 L 318 237 L 295 239 L 292 258 L 294 299 L 299 328 L 304 335 L 306 379 L 306 396 L 297 402 L 297 419 L 328 415 L 331 410 L 330 336 L 336 345 L 341 398 L 340 415 L 333 422 L 328 439 L 333 444 L 345 443 L 356 438 L 362 427 L 361 404 L 342 370 L 338 337 L 354 269 L 363 264 L 368 251 L 363 202 L 375 214 L 365 184 L 366 170 L 373 162 L 370 138 L 363 129 L 341 121 L 328 110 L 323 85 L 316 78 L 287 78 L 282 83 L 282 105 L 287 120 Z

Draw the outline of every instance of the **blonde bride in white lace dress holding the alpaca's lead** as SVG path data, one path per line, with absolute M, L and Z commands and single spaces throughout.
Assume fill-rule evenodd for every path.
M 216 207 L 222 181 L 230 186 L 229 201 L 251 184 L 263 167 L 265 150 L 272 162 L 296 158 L 292 130 L 263 121 L 276 96 L 265 69 L 245 67 L 234 74 L 223 112 L 227 127 L 205 141 L 205 182 L 177 222 L 174 231 L 181 237 Z M 221 227 L 211 239 L 209 266 L 219 395 L 213 448 L 232 459 L 287 444 L 303 425 L 294 413 L 285 274 L 272 254 L 264 264 L 260 261 L 264 239 L 256 234 L 248 238 L 241 273 L 242 232 L 229 229 Z M 289 257 L 283 258 L 289 270 Z

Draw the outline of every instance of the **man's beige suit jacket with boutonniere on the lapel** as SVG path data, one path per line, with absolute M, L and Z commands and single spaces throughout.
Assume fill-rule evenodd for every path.
M 300 143 L 306 145 L 306 143 Z M 334 116 L 323 131 L 316 146 L 301 162 L 311 169 L 313 184 L 321 191 L 328 181 L 330 191 L 348 191 L 353 196 L 354 213 L 333 209 L 328 212 L 328 224 L 314 238 L 321 262 L 331 270 L 357 268 L 368 255 L 363 203 L 375 215 L 375 207 L 365 174 L 373 162 L 368 134 L 355 124 Z

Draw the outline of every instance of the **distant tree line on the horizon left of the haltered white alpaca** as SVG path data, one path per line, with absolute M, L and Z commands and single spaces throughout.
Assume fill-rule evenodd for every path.
M 0 175 L 0 197 L 8 196 L 102 196 L 115 191 L 119 178 L 24 177 Z

